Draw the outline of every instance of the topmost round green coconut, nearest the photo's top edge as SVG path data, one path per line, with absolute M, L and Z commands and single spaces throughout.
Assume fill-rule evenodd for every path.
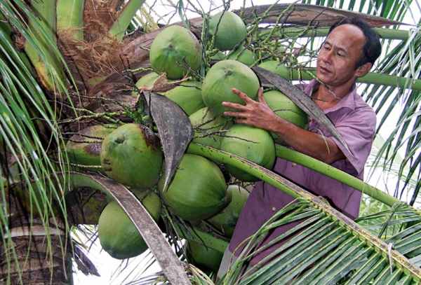
M 217 13 L 210 19 L 210 39 L 215 32 L 215 48 L 220 50 L 232 50 L 237 43 L 240 43 L 247 36 L 247 29 L 243 20 L 239 15 L 229 11 Z

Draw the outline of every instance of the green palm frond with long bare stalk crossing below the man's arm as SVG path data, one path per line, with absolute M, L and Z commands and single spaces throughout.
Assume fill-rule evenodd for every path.
M 262 225 L 260 231 L 248 241 L 245 251 L 253 249 L 271 228 L 309 217 L 307 224 L 300 224 L 275 239 L 273 242 L 293 237 L 276 250 L 274 256 L 279 256 L 239 284 L 285 284 L 295 277 L 297 284 L 335 284 L 342 280 L 342 277 L 347 277 L 347 284 L 367 284 L 371 280 L 374 280 L 374 284 L 380 284 L 378 282 L 387 279 L 409 280 L 413 282 L 411 284 L 420 281 L 420 268 L 409 260 L 420 258 L 421 251 L 417 242 L 410 239 L 420 236 L 420 227 L 408 227 L 421 221 L 420 211 L 402 202 L 396 202 L 389 216 L 399 218 L 388 218 L 387 223 L 374 225 L 377 228 L 382 227 L 380 235 L 387 232 L 389 227 L 399 228 L 394 239 L 386 235 L 389 244 L 396 244 L 394 249 L 391 249 L 386 242 L 340 214 L 319 197 L 307 193 L 253 162 L 196 144 L 190 144 L 188 151 L 232 164 L 250 174 L 260 176 L 263 181 L 298 198 L 297 203 L 282 209 Z M 302 230 L 305 225 L 305 230 Z M 295 236 L 297 232 L 299 233 Z M 406 242 L 408 239 L 410 243 Z M 222 284 L 228 284 L 226 282 L 236 277 L 241 264 L 254 253 L 242 253 Z M 265 261 L 267 260 L 262 260 L 262 263 Z M 305 271 L 313 263 L 314 266 Z M 389 273 L 390 268 L 392 271 Z

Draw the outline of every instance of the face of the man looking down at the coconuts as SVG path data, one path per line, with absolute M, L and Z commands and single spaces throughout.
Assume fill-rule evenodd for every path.
M 317 78 L 329 88 L 354 83 L 355 64 L 366 41 L 363 31 L 354 25 L 340 25 L 330 32 L 317 57 Z

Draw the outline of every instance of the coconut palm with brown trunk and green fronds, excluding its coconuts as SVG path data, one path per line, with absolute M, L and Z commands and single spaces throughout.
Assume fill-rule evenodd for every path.
M 79 269 L 86 274 L 96 274 L 95 265 L 88 260 L 70 233 L 75 225 L 98 224 L 100 211 L 109 200 L 107 195 L 119 201 L 145 237 L 147 230 L 157 229 L 140 223 L 138 217 L 147 219 L 150 216 L 142 210 L 142 205 L 135 196 L 127 192 L 126 187 L 86 172 L 86 167 L 72 162 L 65 151 L 65 145 L 72 135 L 90 125 L 149 123 L 145 113 L 142 113 L 142 108 L 147 106 L 138 101 L 138 97 L 132 97 L 131 92 L 138 78 L 152 70 L 148 49 L 162 28 L 158 29 L 159 25 L 151 16 L 154 13 L 153 8 L 149 8 L 148 12 L 148 6 L 144 6 L 144 3 L 145 1 L 137 0 L 107 3 L 0 0 L 0 217 L 3 244 L 0 249 L 0 279 L 6 284 L 69 284 L 72 282 L 71 260 L 75 260 Z M 325 5 L 324 1 L 314 4 Z M 358 5 L 351 1 L 349 6 L 342 4 L 338 8 L 364 11 L 366 14 L 360 14 L 360 17 L 366 18 L 375 27 L 382 27 L 399 24 L 408 13 L 411 1 L 400 5 L 399 1 L 370 1 L 368 8 L 364 8 L 365 4 L 365 1 Z M 326 3 L 326 6 L 333 6 L 333 3 Z M 222 10 L 224 8 L 227 10 L 228 6 L 225 5 Z M 189 10 L 198 11 L 202 16 L 187 20 L 186 11 Z M 194 4 L 179 1 L 173 13 L 177 12 L 182 15 L 182 21 L 178 25 L 189 27 L 203 45 L 207 41 L 210 45 L 197 75 L 203 76 L 210 64 L 208 57 L 217 52 L 212 48 L 213 41 L 206 39 L 210 11 L 204 11 L 200 2 Z M 295 80 L 312 78 L 312 70 L 299 61 L 300 58 L 312 59 L 316 54 L 316 47 L 309 48 L 313 43 L 312 36 L 323 36 L 323 33 L 326 34 L 326 27 L 336 19 L 354 15 L 348 11 L 293 4 L 248 9 L 243 7 L 236 13 L 248 24 L 247 37 L 253 41 L 250 46 L 253 46 L 259 58 L 281 59 L 290 68 L 290 75 L 293 76 L 290 79 Z M 307 16 L 303 19 L 300 13 L 307 13 Z M 395 29 L 399 27 L 395 26 Z M 418 29 L 407 32 L 380 28 L 378 32 L 388 47 L 382 57 L 384 60 L 377 64 L 377 74 L 369 74 L 361 80 L 375 83 L 368 85 L 365 97 L 376 110 L 383 113 L 387 109 L 380 126 L 393 113 L 396 105 L 390 104 L 389 100 L 405 102 L 396 130 L 380 149 L 377 160 L 384 163 L 382 159 L 385 159 L 392 165 L 397 151 L 406 148 L 399 173 L 403 176 L 405 169 L 408 169 L 408 173 L 403 179 L 403 186 L 396 192 L 396 197 L 400 197 L 402 191 L 409 187 L 411 177 L 417 175 L 415 173 L 420 162 L 416 151 L 419 141 L 417 108 L 420 81 L 406 80 L 419 78 L 420 33 Z M 299 38 L 307 40 L 299 42 Z M 398 44 L 395 46 L 396 41 Z M 295 50 L 279 51 L 279 44 L 286 48 L 294 47 Z M 298 48 L 298 44 L 301 48 Z M 206 50 L 206 46 L 203 47 Z M 157 88 L 158 86 L 154 86 L 152 90 L 162 87 Z M 166 85 L 164 88 L 171 86 Z M 168 116 L 175 115 L 171 113 Z M 155 123 L 159 131 L 162 131 L 165 124 L 160 124 L 157 117 L 154 117 Z M 90 139 L 95 140 L 98 137 Z M 170 139 L 171 136 L 161 136 L 163 144 L 167 146 L 171 145 L 168 143 Z M 177 144 L 173 146 L 178 148 Z M 181 150 L 184 152 L 184 149 Z M 245 281 L 247 284 L 272 284 L 276 280 L 282 283 L 295 277 L 325 282 L 338 282 L 342 281 L 342 277 L 348 277 L 349 284 L 356 281 L 364 284 L 363 282 L 372 279 L 375 282 L 387 279 L 399 280 L 401 284 L 413 284 L 421 278 L 417 266 L 409 261 L 418 262 L 419 242 L 413 237 L 419 231 L 417 221 L 420 213 L 402 204 L 396 197 L 390 197 L 343 173 L 335 173 L 335 169 L 286 148 L 276 148 L 279 157 L 340 177 L 343 183 L 363 190 L 389 205 L 390 211 L 361 219 L 368 230 L 377 233 L 377 238 L 317 197 L 258 165 L 194 144 L 187 148 L 187 152 L 216 158 L 261 176 L 265 181 L 298 198 L 298 203 L 280 211 L 275 217 L 278 220 L 269 221 L 267 227 L 274 227 L 276 223 L 288 223 L 303 216 L 312 217 L 313 224 L 308 231 L 303 232 L 301 239 L 292 239 L 286 245 L 288 255 L 283 254 L 264 267 L 265 277 L 255 274 Z M 166 153 L 167 162 L 170 162 L 170 156 Z M 175 162 L 173 164 L 176 166 Z M 169 165 L 167 163 L 167 168 L 171 169 Z M 420 183 L 415 186 L 411 203 L 415 202 L 420 186 Z M 163 213 L 163 216 L 171 216 L 171 213 Z M 154 224 L 152 219 L 148 221 Z M 222 237 L 215 237 L 181 221 L 177 223 L 176 217 L 171 221 L 174 222 L 173 228 L 177 230 L 177 234 L 168 233 L 170 239 L 173 237 L 175 240 L 178 236 L 201 240 L 210 248 L 221 252 L 227 246 L 227 240 Z M 250 248 L 265 234 L 265 230 L 262 229 L 250 240 Z M 192 235 L 192 232 L 196 234 Z M 326 232 L 331 233 L 327 235 Z M 158 236 L 160 231 L 155 234 Z M 319 242 L 315 243 L 316 239 Z M 388 249 L 382 239 L 395 244 L 396 250 Z M 197 270 L 189 265 L 185 265 L 188 275 L 185 274 L 182 264 L 172 254 L 169 245 L 162 247 L 154 244 L 151 239 L 148 245 L 159 262 L 165 259 L 173 261 L 170 265 L 174 267 L 163 268 L 170 281 L 208 280 L 205 277 L 196 279 Z M 307 248 L 309 250 L 303 250 Z M 302 273 L 305 267 L 326 256 L 329 251 L 331 253 L 318 266 Z M 286 259 L 293 257 L 295 263 L 290 264 L 293 266 L 280 266 Z M 249 256 L 243 256 L 229 274 L 236 275 L 236 268 L 248 258 Z M 349 263 L 336 266 L 336 263 L 339 264 L 337 260 L 343 258 L 349 260 Z M 392 261 L 389 263 L 389 260 Z M 335 266 L 339 269 L 335 270 Z M 388 270 L 393 273 L 389 274 Z

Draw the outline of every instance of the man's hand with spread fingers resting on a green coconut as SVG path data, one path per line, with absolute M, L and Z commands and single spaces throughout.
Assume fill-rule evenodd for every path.
M 225 116 L 235 118 L 235 122 L 239 124 L 251 125 L 264 130 L 274 131 L 274 121 L 279 118 L 272 111 L 263 97 L 263 88 L 258 90 L 258 102 L 248 97 L 246 94 L 236 88 L 232 88 L 232 92 L 238 95 L 246 106 L 232 102 L 222 102 L 222 106 L 231 107 L 239 111 L 225 111 Z

